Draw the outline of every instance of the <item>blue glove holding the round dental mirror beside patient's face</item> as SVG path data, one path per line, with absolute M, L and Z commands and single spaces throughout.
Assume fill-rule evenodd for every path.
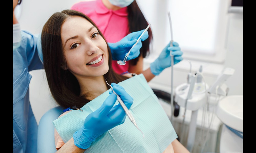
M 121 39 L 119 42 L 108 43 L 110 50 L 111 50 L 112 59 L 113 60 L 124 60 L 125 55 L 129 52 L 129 50 L 132 48 L 132 46 L 136 43 L 137 39 L 140 37 L 140 35 L 143 33 L 144 30 L 132 32 L 132 33 L 128 34 L 127 36 L 125 36 L 123 39 Z M 148 32 L 146 31 L 141 36 L 141 39 L 138 42 L 138 44 L 132 48 L 127 60 L 134 59 L 140 55 L 140 48 L 142 47 L 141 41 L 144 41 L 147 38 L 148 38 Z

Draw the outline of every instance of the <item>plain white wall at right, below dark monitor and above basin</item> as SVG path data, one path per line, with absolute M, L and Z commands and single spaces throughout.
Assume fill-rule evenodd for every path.
M 229 95 L 243 95 L 243 14 L 230 14 L 225 66 L 236 69 L 226 81 Z

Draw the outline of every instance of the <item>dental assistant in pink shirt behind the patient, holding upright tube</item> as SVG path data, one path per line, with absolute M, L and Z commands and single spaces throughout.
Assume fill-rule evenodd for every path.
M 71 9 L 82 12 L 89 16 L 102 31 L 108 42 L 114 43 L 122 37 L 133 31 L 145 29 L 148 23 L 142 14 L 135 0 L 96 0 L 82 1 L 74 4 Z M 158 27 L 161 28 L 161 27 Z M 171 66 L 171 57 L 174 55 L 174 64 L 183 60 L 183 52 L 180 51 L 178 43 L 174 42 L 173 47 L 170 44 L 162 50 L 159 57 L 150 64 L 150 68 L 143 70 L 143 58 L 149 53 L 150 43 L 153 39 L 151 28 L 148 29 L 148 39 L 142 42 L 140 55 L 126 62 L 126 65 L 118 65 L 116 61 L 112 62 L 112 68 L 118 74 L 126 71 L 130 73 L 143 74 L 147 82 L 159 75 L 165 68 Z M 111 47 L 112 44 L 109 43 Z M 113 54 L 112 54 L 113 55 Z M 128 56 L 129 59 L 131 55 Z M 124 59 L 124 56 L 121 60 Z M 116 60 L 113 58 L 113 60 Z

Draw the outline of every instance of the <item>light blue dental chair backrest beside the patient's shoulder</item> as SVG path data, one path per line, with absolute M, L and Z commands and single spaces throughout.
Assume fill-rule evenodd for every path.
M 51 153 L 56 152 L 54 141 L 54 125 L 52 121 L 56 120 L 62 113 L 63 107 L 54 107 L 48 110 L 40 119 L 37 133 L 37 152 Z

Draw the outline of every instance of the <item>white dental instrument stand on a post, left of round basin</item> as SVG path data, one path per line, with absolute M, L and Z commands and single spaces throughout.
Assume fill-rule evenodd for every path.
M 192 152 L 195 141 L 198 109 L 200 109 L 207 101 L 206 91 L 208 89 L 208 85 L 205 85 L 204 82 L 197 82 L 197 77 L 197 75 L 191 73 L 187 83 L 180 84 L 175 88 L 174 100 L 180 107 L 185 108 L 185 112 L 186 109 L 192 111 L 186 145 L 186 148 L 190 152 Z

